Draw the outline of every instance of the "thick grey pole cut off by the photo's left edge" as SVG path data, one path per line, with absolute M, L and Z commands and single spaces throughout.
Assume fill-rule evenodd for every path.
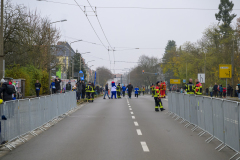
M 3 5 L 4 2 L 1 0 L 1 30 L 0 30 L 0 78 L 5 77 L 5 60 L 3 53 Z

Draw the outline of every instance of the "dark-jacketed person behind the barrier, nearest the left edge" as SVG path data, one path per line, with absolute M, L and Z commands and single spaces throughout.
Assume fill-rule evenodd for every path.
M 3 101 L 11 101 L 14 93 L 14 86 L 9 82 L 4 82 L 0 88 L 0 94 L 3 93 Z

